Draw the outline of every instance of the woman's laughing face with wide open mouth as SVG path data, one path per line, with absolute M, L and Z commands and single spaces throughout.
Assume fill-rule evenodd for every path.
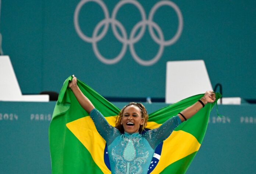
M 123 125 L 125 132 L 139 132 L 139 127 L 143 125 L 143 123 L 144 119 L 141 118 L 141 110 L 137 106 L 130 105 L 124 109 L 121 125 Z

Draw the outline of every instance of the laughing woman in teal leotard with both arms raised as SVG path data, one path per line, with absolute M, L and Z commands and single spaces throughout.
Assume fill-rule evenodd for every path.
M 96 110 L 90 100 L 83 95 L 73 75 L 68 85 L 81 106 L 90 113 L 97 131 L 106 140 L 112 173 L 147 173 L 157 145 L 164 141 L 173 130 L 186 119 L 191 118 L 207 103 L 216 100 L 213 91 L 207 91 L 195 104 L 168 119 L 156 129 L 141 132 L 147 124 L 147 111 L 141 103 L 130 103 L 118 114 L 116 126 L 109 125 L 104 116 Z

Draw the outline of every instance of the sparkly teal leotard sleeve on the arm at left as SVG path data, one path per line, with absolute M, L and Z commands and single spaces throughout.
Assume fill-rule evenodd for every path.
M 104 138 L 107 142 L 107 145 L 110 145 L 114 139 L 120 135 L 120 131 L 115 127 L 111 126 L 106 118 L 98 111 L 97 109 L 93 109 L 90 112 L 90 117 L 92 118 L 97 131 L 99 132 L 100 136 Z

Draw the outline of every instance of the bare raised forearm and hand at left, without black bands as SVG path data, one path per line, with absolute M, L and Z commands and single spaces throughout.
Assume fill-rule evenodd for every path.
M 73 76 L 72 81 L 68 84 L 68 87 L 71 88 L 71 90 L 73 91 L 75 97 L 77 98 L 79 104 L 82 106 L 82 108 L 90 113 L 90 111 L 92 111 L 94 109 L 94 106 L 92 104 L 92 102 L 90 102 L 90 100 L 83 95 L 82 91 L 79 89 L 79 87 L 77 86 L 77 78 Z

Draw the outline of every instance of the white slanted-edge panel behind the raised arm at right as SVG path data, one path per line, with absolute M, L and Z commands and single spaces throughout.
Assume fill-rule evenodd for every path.
M 213 90 L 203 60 L 167 62 L 166 103 Z

